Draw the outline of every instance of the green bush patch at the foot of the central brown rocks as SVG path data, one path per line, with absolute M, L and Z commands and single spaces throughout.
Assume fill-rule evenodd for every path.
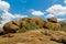
M 22 32 L 26 32 L 26 31 L 30 31 L 30 30 L 36 30 L 38 29 L 36 25 L 34 25 L 33 23 L 25 23 L 22 25 L 21 30 L 19 30 L 18 32 L 19 33 L 22 33 Z

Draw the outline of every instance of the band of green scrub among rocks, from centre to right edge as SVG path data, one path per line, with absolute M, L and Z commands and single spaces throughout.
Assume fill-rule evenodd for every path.
M 22 32 L 26 32 L 30 30 L 37 30 L 37 29 L 50 29 L 50 30 L 54 30 L 54 31 L 66 31 L 66 24 L 63 23 L 61 28 L 57 28 L 56 25 L 52 24 L 51 22 L 45 22 L 43 23 L 34 23 L 34 22 L 25 22 L 21 24 L 21 30 L 19 30 L 18 32 L 22 33 Z

